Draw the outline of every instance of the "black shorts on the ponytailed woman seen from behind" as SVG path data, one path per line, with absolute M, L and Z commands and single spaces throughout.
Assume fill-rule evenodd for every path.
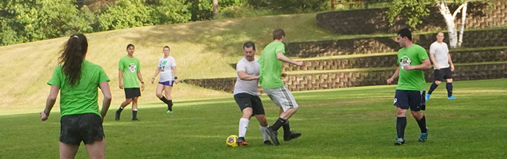
M 69 145 L 94 143 L 105 138 L 102 118 L 97 114 L 65 115 L 60 119 L 60 142 Z

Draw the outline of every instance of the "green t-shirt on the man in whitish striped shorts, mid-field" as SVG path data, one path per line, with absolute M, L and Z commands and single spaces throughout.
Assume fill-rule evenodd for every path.
M 282 42 L 271 42 L 262 51 L 261 58 L 257 60 L 261 65 L 259 83 L 264 89 L 279 88 L 285 85 L 280 79 L 283 62 L 277 59 L 278 52 L 285 55 L 285 45 Z

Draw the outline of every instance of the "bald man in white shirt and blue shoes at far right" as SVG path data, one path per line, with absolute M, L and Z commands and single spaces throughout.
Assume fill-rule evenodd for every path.
M 444 79 L 447 82 L 447 99 L 456 99 L 453 97 L 453 75 L 451 73 L 454 71 L 454 64 L 453 60 L 451 60 L 451 54 L 449 54 L 447 44 L 444 42 L 444 33 L 438 32 L 437 40 L 430 45 L 429 58 L 431 62 L 433 62 L 435 82 L 431 84 L 428 94 L 426 94 L 426 100 L 429 100 L 433 90 L 435 90 Z

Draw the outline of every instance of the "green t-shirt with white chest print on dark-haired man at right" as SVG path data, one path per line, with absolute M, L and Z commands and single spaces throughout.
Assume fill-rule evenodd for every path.
M 426 81 L 424 72 L 420 70 L 406 71 L 403 66 L 419 65 L 428 58 L 426 50 L 419 45 L 413 44 L 409 48 L 402 48 L 398 51 L 398 64 L 400 64 L 400 77 L 398 79 L 398 90 L 424 90 Z

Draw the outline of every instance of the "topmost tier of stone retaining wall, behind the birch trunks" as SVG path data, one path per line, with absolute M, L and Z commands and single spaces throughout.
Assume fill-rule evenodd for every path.
M 493 1 L 493 7 L 484 2 L 468 3 L 465 29 L 483 29 L 507 25 L 507 1 Z M 450 5 L 454 11 L 457 5 Z M 374 33 L 396 33 L 406 25 L 406 19 L 400 18 L 389 26 L 385 12 L 387 8 L 365 9 L 365 10 L 343 10 L 324 12 L 316 15 L 317 26 L 328 29 L 336 34 L 374 34 Z M 431 14 L 422 18 L 422 24 L 417 28 L 420 31 L 446 30 L 442 14 L 438 8 L 430 8 Z M 456 19 L 461 19 L 458 14 Z M 456 26 L 461 26 L 461 21 Z

